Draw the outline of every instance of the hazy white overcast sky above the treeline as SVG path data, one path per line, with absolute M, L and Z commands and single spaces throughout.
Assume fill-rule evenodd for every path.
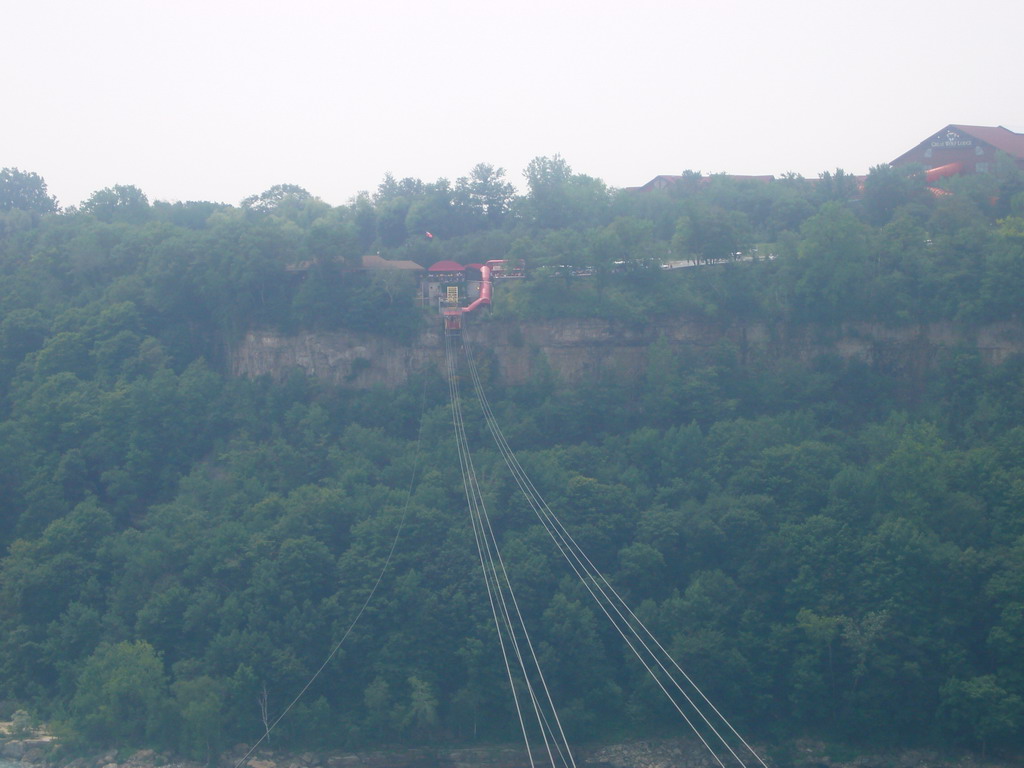
M 388 171 L 612 186 L 685 169 L 863 173 L 948 123 L 1024 131 L 1000 0 L 5 0 L 0 167 L 340 205 Z

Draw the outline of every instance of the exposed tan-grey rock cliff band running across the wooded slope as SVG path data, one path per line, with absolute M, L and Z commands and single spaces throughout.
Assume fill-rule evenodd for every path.
M 490 375 L 509 385 L 548 375 L 566 384 L 634 380 L 645 373 L 654 344 L 681 355 L 699 357 L 714 351 L 735 355 L 741 365 L 768 367 L 808 362 L 830 354 L 909 379 L 925 376 L 938 360 L 956 350 L 977 350 L 990 364 L 1024 352 L 1024 327 L 1020 324 L 981 328 L 865 324 L 826 329 L 683 318 L 644 326 L 599 319 L 485 318 L 467 324 L 462 333 L 487 358 Z M 368 333 L 284 336 L 253 331 L 231 354 L 231 370 L 237 376 L 282 378 L 297 369 L 338 386 L 360 389 L 400 386 L 418 374 L 443 371 L 443 331 L 433 326 L 410 344 Z

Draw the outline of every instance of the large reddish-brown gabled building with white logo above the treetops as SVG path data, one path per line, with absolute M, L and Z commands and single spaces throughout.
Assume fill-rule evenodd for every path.
M 988 173 L 997 152 L 1009 155 L 1024 169 L 1024 133 L 982 125 L 947 125 L 890 165 L 923 165 L 928 169 L 958 166 L 955 173 Z

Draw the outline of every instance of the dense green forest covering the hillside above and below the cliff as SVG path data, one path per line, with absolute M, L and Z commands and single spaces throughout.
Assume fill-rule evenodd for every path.
M 253 328 L 414 344 L 438 323 L 411 283 L 346 269 L 361 254 L 523 259 L 479 322 L 1021 319 L 1009 161 L 941 195 L 888 166 L 616 190 L 557 156 L 524 182 L 481 164 L 338 207 L 282 184 L 237 206 L 118 185 L 60 208 L 37 174 L 0 171 L 0 719 L 29 712 L 69 756 L 252 743 L 351 623 L 408 505 L 380 591 L 272 744 L 517 737 L 442 372 L 391 391 L 227 375 Z M 659 268 L 680 259 L 721 263 Z M 562 264 L 593 275 L 546 275 Z M 488 397 L 716 706 L 767 744 L 1021 750 L 1024 358 L 965 347 L 910 386 L 828 355 L 647 356 L 639 384 L 541 376 Z M 570 740 L 682 735 L 466 412 Z

